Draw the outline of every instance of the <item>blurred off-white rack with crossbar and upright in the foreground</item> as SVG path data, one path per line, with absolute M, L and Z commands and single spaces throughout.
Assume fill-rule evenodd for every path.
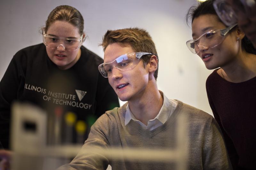
M 12 170 L 53 170 L 75 157 L 81 145 L 47 144 L 47 116 L 43 110 L 30 104 L 15 103 L 12 107 L 13 157 Z M 72 117 L 72 114 L 69 115 Z M 71 118 L 69 118 L 71 120 Z M 72 118 L 73 122 L 74 118 Z M 148 148 L 88 148 L 110 159 L 127 161 L 170 161 L 177 162 L 177 169 L 186 169 L 187 129 L 186 118 L 180 115 L 177 124 L 177 147 L 173 150 Z M 54 129 L 52 129 L 54 131 Z M 8 158 L 9 159 L 9 158 Z M 10 160 L 10 159 L 9 159 Z

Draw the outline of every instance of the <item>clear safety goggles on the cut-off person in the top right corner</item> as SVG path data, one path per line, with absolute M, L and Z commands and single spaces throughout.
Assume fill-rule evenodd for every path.
M 246 14 L 250 11 L 250 7 L 255 5 L 255 0 L 234 0 L 233 2 L 241 12 Z M 226 0 L 216 0 L 213 2 L 213 7 L 221 21 L 226 26 L 231 26 L 237 23 L 237 15 L 230 4 Z

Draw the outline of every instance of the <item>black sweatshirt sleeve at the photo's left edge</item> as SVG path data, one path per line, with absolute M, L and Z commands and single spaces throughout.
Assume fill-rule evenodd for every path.
M 24 77 L 22 64 L 14 56 L 0 82 L 0 141 L 5 149 L 9 149 L 10 107 L 23 89 L 21 85 Z

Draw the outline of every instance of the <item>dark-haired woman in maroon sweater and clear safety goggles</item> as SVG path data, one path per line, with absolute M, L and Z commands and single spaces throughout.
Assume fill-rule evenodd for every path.
M 237 24 L 221 22 L 213 2 L 189 9 L 193 39 L 187 46 L 207 69 L 216 69 L 207 78 L 206 91 L 233 168 L 255 169 L 256 50 Z

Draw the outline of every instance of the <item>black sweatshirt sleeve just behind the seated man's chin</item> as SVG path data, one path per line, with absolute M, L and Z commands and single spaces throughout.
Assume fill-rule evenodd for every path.
M 119 107 L 118 97 L 113 88 L 109 85 L 108 79 L 104 78 L 99 73 L 97 94 L 96 94 L 96 115 L 100 117 L 103 113 L 114 107 Z

